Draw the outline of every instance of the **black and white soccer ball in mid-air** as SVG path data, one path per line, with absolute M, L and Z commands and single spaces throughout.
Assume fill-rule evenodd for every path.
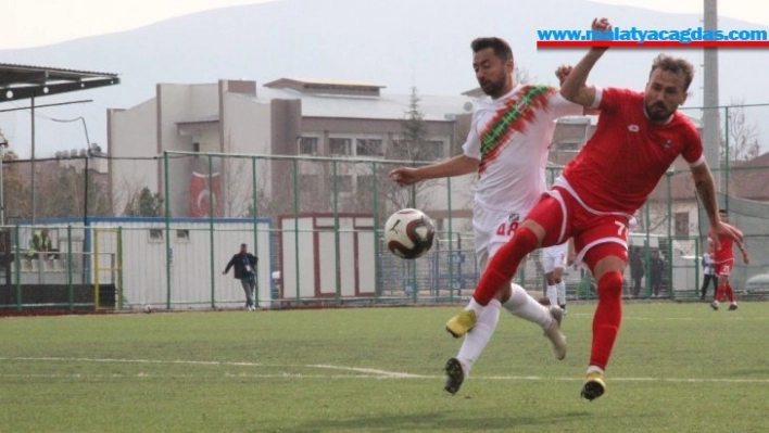
M 419 209 L 401 209 L 384 222 L 384 243 L 401 258 L 417 258 L 430 251 L 436 228 Z

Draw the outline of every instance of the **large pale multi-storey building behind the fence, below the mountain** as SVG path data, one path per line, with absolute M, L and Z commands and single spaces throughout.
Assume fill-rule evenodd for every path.
M 403 135 L 412 94 L 383 94 L 382 88 L 369 82 L 288 78 L 262 87 L 242 80 L 160 84 L 155 98 L 131 109 L 109 111 L 114 209 L 119 213 L 126 200 L 143 187 L 164 192 L 164 162 L 146 158 L 162 156 L 165 151 L 384 160 Z M 436 160 L 456 154 L 476 100 L 468 95 L 418 98 L 427 127 L 424 145 Z M 222 191 L 216 196 L 220 207 L 215 212 L 227 217 L 248 213 L 252 168 L 259 174 L 254 183 L 264 196 L 286 192 L 291 184 L 291 167 L 287 163 L 260 160 L 255 167 L 251 164 L 247 158 L 227 162 L 214 158 L 209 167 L 206 157 L 169 158 L 172 215 L 196 216 L 190 204 L 194 202 L 190 198 L 196 191 L 190 190 L 196 188 L 191 187 L 196 173 L 206 178 L 211 171 L 212 190 Z M 322 165 L 303 164 L 300 187 L 302 191 L 323 195 L 328 203 L 330 180 L 329 173 L 324 170 Z M 247 179 L 241 182 L 243 176 Z M 375 180 L 370 169 L 362 171 L 350 166 L 341 167 L 337 178 L 342 196 L 370 189 Z M 471 181 L 471 176 L 452 181 L 451 199 L 443 188 L 434 194 L 432 208 L 440 214 L 447 208 L 449 200 L 455 208 L 462 207 L 459 203 L 467 207 Z M 238 183 L 245 187 L 238 188 Z

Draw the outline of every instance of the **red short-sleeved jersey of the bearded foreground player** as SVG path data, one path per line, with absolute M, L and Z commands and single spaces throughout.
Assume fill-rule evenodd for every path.
M 678 111 L 670 122 L 648 120 L 643 93 L 596 89 L 601 115 L 595 132 L 566 165 L 564 178 L 589 208 L 634 214 L 678 155 L 703 163 L 696 127 Z

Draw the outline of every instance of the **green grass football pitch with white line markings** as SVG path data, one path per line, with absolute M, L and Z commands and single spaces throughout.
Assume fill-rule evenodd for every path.
M 442 391 L 457 307 L 0 319 L 0 430 L 35 432 L 766 431 L 769 315 L 630 304 L 607 392 L 579 391 L 594 305 L 555 360 L 503 314 L 461 392 Z

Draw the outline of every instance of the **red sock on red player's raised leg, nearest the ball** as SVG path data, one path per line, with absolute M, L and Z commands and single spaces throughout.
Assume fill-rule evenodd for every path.
M 489 262 L 472 297 L 480 305 L 489 305 L 500 288 L 509 284 L 520 260 L 537 249 L 537 234 L 528 228 L 518 229 L 513 239 L 502 245 Z

